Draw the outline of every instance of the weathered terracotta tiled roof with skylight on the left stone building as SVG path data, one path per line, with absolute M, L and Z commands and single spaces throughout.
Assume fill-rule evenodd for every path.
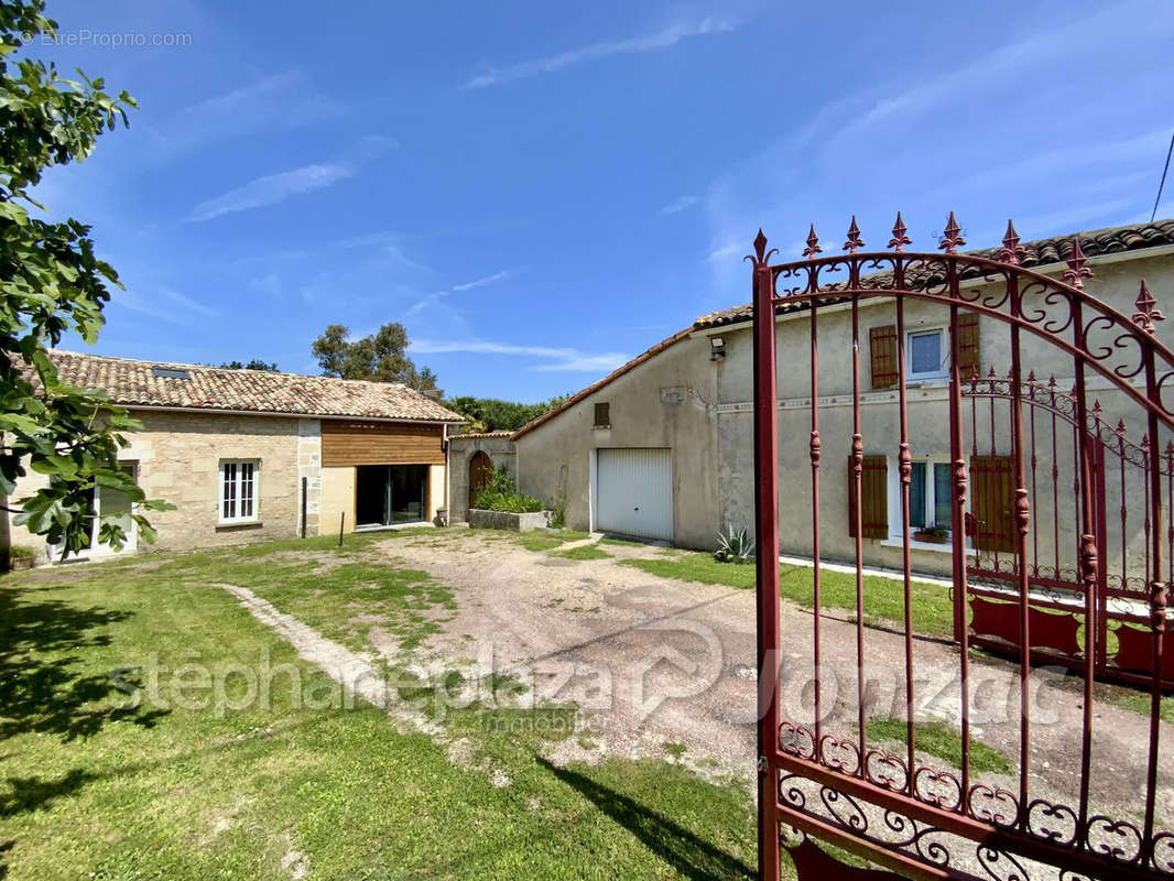
M 297 416 L 342 416 L 416 422 L 464 422 L 448 408 L 398 383 L 335 379 L 268 370 L 224 370 L 198 364 L 110 358 L 54 349 L 58 376 L 70 385 L 104 391 L 123 406 L 239 410 Z M 158 370 L 190 378 L 158 376 Z

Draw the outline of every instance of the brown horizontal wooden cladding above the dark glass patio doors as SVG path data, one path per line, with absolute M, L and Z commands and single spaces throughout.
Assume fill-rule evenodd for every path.
M 443 429 L 411 423 L 323 419 L 322 464 L 443 465 Z

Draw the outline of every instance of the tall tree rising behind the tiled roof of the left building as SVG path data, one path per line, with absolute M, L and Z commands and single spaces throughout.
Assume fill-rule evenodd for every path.
M 322 372 L 342 379 L 403 383 L 419 391 L 437 388 L 429 368 L 417 368 L 407 357 L 407 331 L 399 322 L 384 324 L 362 339 L 350 339 L 343 324 L 331 324 L 313 341 L 311 351 Z

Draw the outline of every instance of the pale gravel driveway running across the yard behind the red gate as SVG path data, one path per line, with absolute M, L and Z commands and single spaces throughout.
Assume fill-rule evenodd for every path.
M 567 545 L 571 546 L 571 545 Z M 706 774 L 753 774 L 755 756 L 755 608 L 751 591 L 659 578 L 619 565 L 666 553 L 652 546 L 601 545 L 608 559 L 573 560 L 527 551 L 478 531 L 379 543 L 375 552 L 421 569 L 453 589 L 456 618 L 430 646 L 439 659 L 492 663 L 532 681 L 537 693 L 575 700 L 587 731 L 556 747 L 556 760 L 603 755 L 683 756 Z M 803 686 L 811 679 L 811 613 L 783 603 L 781 699 L 784 718 L 811 718 Z M 824 619 L 825 729 L 856 731 L 856 627 L 842 613 Z M 904 640 L 865 630 L 868 714 L 904 718 Z M 918 720 L 956 720 L 958 652 L 918 639 L 915 648 Z M 1018 765 L 1018 671 L 976 654 L 971 661 L 972 732 Z M 838 686 L 838 687 L 837 687 Z M 1079 786 L 1081 692 L 1075 677 L 1032 675 L 1031 798 L 1075 802 Z M 1112 702 L 1098 687 L 1094 712 L 1094 809 L 1136 821 L 1145 780 L 1148 720 Z M 1162 725 L 1163 744 L 1174 732 Z M 900 749 L 902 747 L 895 747 Z M 1165 752 L 1165 751 L 1163 751 Z M 927 758 L 935 765 L 943 760 Z M 1172 815 L 1172 762 L 1163 762 L 1160 813 Z M 1007 776 L 990 782 L 1014 789 Z M 1169 823 L 1165 823 L 1169 828 Z

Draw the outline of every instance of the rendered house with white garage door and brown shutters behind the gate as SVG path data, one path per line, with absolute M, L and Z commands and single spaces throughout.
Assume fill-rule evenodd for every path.
M 1024 243 L 1023 264 L 1059 277 L 1067 269 L 1073 235 Z M 1174 220 L 1080 233 L 1093 277 L 1087 290 L 1126 315 L 1135 311 L 1140 281 L 1162 304 L 1174 290 Z M 990 251 L 974 251 L 993 255 Z M 747 275 L 749 285 L 749 270 Z M 981 280 L 965 282 L 980 285 Z M 862 301 L 859 308 L 862 419 L 869 472 L 864 506 L 865 556 L 871 565 L 899 567 L 903 526 L 897 492 L 898 451 L 896 390 L 896 331 L 891 298 Z M 909 338 L 910 431 L 915 453 L 915 504 L 911 525 L 940 526 L 944 464 L 946 366 L 949 341 L 945 309 L 936 303 L 910 303 L 905 323 Z M 777 315 L 778 421 L 781 475 L 781 543 L 784 553 L 810 556 L 811 496 L 808 444 L 810 435 L 809 324 L 804 310 L 783 305 Z M 753 458 L 753 310 L 749 305 L 699 317 L 691 327 L 652 347 L 564 405 L 515 432 L 511 441 L 519 487 L 545 500 L 566 497 L 567 525 L 672 540 L 710 549 L 724 524 L 754 523 Z M 960 328 L 964 372 L 986 376 L 993 368 L 1006 376 L 1010 348 L 1006 325 L 969 316 Z M 1174 342 L 1169 323 L 1158 338 Z M 1054 375 L 1057 388 L 1072 384 L 1071 358 L 1025 338 L 1024 372 L 1033 370 L 1041 383 Z M 822 554 L 850 560 L 855 540 L 849 530 L 848 458 L 851 441 L 851 332 L 846 307 L 819 310 L 819 418 L 823 438 L 821 515 L 829 524 Z M 1093 395 L 1102 398 L 1102 418 L 1115 424 L 1121 402 L 1108 383 L 1095 379 Z M 976 389 L 981 397 L 981 384 Z M 964 389 L 967 391 L 967 389 Z M 998 468 L 1007 457 L 1006 403 L 996 410 L 967 408 L 967 432 L 973 452 L 990 457 Z M 989 413 L 994 413 L 993 416 Z M 1038 442 L 1046 445 L 1044 419 Z M 1139 426 L 1134 441 L 1140 437 Z M 981 448 L 978 449 L 978 442 Z M 500 438 L 497 441 L 501 444 Z M 1165 441 L 1163 441 L 1165 443 Z M 967 451 L 970 452 L 970 451 Z M 493 453 L 490 453 L 491 457 Z M 1064 450 L 1055 477 L 1047 480 L 1071 487 L 1071 464 Z M 842 463 L 842 464 L 841 464 Z M 454 456 L 454 473 L 468 468 L 468 455 Z M 1041 465 L 1043 468 L 1043 465 Z M 1051 465 L 1048 465 L 1051 468 Z M 1043 480 L 1040 482 L 1043 484 Z M 940 484 L 940 485 L 939 485 Z M 989 540 L 1001 540 L 1000 487 L 979 490 L 994 497 L 974 505 L 990 516 Z M 1119 495 L 1128 496 L 1131 487 Z M 1071 496 L 1071 490 L 1070 493 Z M 1061 516 L 1048 509 L 1040 493 L 1034 509 L 1040 522 Z M 1071 517 L 1065 512 L 1062 516 Z M 1062 524 L 1061 524 L 1062 526 Z M 1141 517 L 1128 525 L 1132 543 L 1142 531 Z M 1064 534 L 1064 530 L 1060 530 Z M 980 539 L 981 542 L 983 539 Z M 1047 549 L 1044 549 L 1046 551 Z M 1121 549 L 1114 547 L 1116 554 Z M 1041 553 L 1044 552 L 1041 551 Z M 1133 552 L 1132 550 L 1129 551 Z M 913 565 L 919 571 L 949 571 L 949 545 L 916 542 Z

